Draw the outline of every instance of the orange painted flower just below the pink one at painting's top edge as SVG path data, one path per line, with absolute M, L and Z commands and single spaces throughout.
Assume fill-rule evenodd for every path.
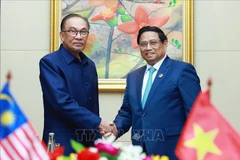
M 95 22 L 95 21 L 99 21 L 99 20 L 104 20 L 104 21 L 111 20 L 115 17 L 116 11 L 118 10 L 119 7 L 121 7 L 121 6 L 106 8 L 106 9 L 102 10 L 98 15 L 93 17 L 91 19 L 91 21 Z

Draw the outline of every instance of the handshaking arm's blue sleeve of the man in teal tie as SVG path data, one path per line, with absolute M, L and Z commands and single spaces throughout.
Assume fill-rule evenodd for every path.
M 118 114 L 114 120 L 114 123 L 116 124 L 118 129 L 118 137 L 128 132 L 128 130 L 132 126 L 132 111 L 131 111 L 131 106 L 129 103 L 129 96 L 128 96 L 128 90 L 129 90 L 128 81 L 129 81 L 129 76 L 127 76 L 127 86 L 125 89 L 122 106 L 118 111 Z

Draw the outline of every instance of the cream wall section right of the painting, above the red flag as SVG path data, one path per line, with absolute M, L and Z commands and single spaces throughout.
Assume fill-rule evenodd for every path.
M 240 131 L 240 1 L 195 1 L 195 66 L 202 88 L 211 77 L 212 103 Z

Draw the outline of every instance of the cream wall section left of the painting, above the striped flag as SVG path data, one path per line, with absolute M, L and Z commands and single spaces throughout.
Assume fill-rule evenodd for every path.
M 10 70 L 10 89 L 41 135 L 43 110 L 39 59 L 49 52 L 50 2 L 1 1 L 1 87 Z

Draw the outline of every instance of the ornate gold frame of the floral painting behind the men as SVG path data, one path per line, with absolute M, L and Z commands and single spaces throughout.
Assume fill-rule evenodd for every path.
M 194 41 L 193 41 L 193 0 L 183 0 L 183 61 L 193 64 L 194 62 Z M 51 0 L 50 3 L 50 51 L 59 48 L 59 26 L 61 14 L 61 1 Z M 100 92 L 124 92 L 126 87 L 125 79 L 99 79 Z

